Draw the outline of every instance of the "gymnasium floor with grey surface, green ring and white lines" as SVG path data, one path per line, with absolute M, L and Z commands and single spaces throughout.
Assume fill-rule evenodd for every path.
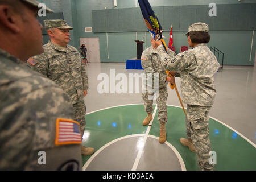
M 168 88 L 167 141 L 164 144 L 158 141 L 156 105 L 151 126 L 142 126 L 146 112 L 141 90 L 140 93 L 110 93 L 111 79 L 118 73 L 127 76 L 127 85 L 129 73 L 143 73 L 125 69 L 125 65 L 89 63 L 86 67 L 89 90 L 85 97 L 83 144 L 94 147 L 96 152 L 83 156 L 82 169 L 199 170 L 196 154 L 179 142 L 180 137 L 185 137 L 185 115 L 175 90 Z M 109 93 L 98 93 L 102 82 L 100 77 L 97 80 L 100 73 L 109 76 Z M 210 141 L 217 163 L 214 169 L 256 170 L 256 68 L 224 65 L 214 79 L 217 96 L 209 113 Z M 181 94 L 180 78 L 176 77 L 175 81 Z

